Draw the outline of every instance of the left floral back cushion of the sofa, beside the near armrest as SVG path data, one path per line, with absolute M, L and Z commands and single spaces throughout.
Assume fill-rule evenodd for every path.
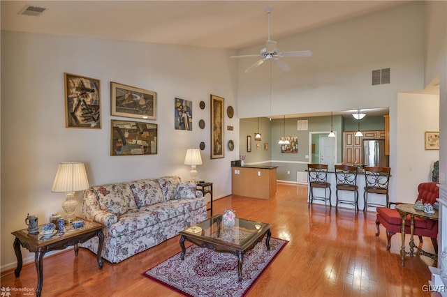
M 110 211 L 115 215 L 122 215 L 127 211 L 127 203 L 123 199 L 122 189 L 119 183 L 99 185 L 91 187 L 98 194 L 99 208 L 101 211 Z

